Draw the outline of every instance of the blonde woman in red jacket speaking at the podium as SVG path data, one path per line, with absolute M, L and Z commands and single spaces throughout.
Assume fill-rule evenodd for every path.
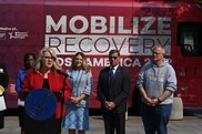
M 60 134 L 62 121 L 62 102 L 71 96 L 71 87 L 69 81 L 61 73 L 61 66 L 57 60 L 55 52 L 50 48 L 40 51 L 39 56 L 24 78 L 22 91 L 32 91 L 36 89 L 48 89 L 55 94 L 57 107 L 55 114 L 48 120 L 37 121 L 26 114 L 24 130 L 26 134 Z

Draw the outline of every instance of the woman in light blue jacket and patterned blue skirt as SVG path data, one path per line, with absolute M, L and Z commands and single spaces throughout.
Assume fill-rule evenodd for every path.
M 92 91 L 92 74 L 82 52 L 75 53 L 67 70 L 72 87 L 71 100 L 67 104 L 63 127 L 69 134 L 85 134 L 89 131 L 89 99 Z

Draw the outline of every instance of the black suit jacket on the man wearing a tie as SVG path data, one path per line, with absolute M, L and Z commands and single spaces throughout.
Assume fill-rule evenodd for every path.
M 110 82 L 110 66 L 100 71 L 98 82 L 98 100 L 101 102 L 103 112 L 124 113 L 127 111 L 127 99 L 130 90 L 130 73 L 127 69 L 118 66 L 112 82 Z M 113 101 L 115 109 L 108 111 L 104 107 L 105 101 Z

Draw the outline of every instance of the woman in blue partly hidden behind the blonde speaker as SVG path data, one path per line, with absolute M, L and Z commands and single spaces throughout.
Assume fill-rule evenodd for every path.
M 21 134 L 24 134 L 24 102 L 23 99 L 24 97 L 21 93 L 21 84 L 24 80 L 24 76 L 27 74 L 27 71 L 29 69 L 31 69 L 31 66 L 34 64 L 36 61 L 36 55 L 33 53 L 26 53 L 24 54 L 24 59 L 23 59 L 23 63 L 24 63 L 24 69 L 18 70 L 17 72 L 17 76 L 16 76 L 16 91 L 19 94 L 19 101 L 18 101 L 18 107 L 19 107 L 19 125 L 21 127 Z M 21 99 L 20 99 L 21 97 Z

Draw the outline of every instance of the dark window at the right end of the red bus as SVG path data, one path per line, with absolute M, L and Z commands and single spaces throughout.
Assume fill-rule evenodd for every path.
M 202 55 L 202 24 L 180 22 L 178 24 L 178 44 L 183 55 Z

